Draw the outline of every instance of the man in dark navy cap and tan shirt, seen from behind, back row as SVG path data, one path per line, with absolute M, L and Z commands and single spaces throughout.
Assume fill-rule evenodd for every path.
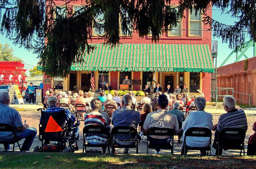
M 177 134 L 179 124 L 176 115 L 168 113 L 166 107 L 168 106 L 168 99 L 166 95 L 159 95 L 157 100 L 158 110 L 149 113 L 143 124 L 144 135 L 148 133 L 148 129 L 151 127 L 169 128 L 173 129 L 174 133 Z M 167 145 L 171 142 L 171 137 L 168 136 L 148 136 L 148 141 L 151 144 L 162 144 Z M 160 154 L 160 149 L 156 149 L 155 154 Z

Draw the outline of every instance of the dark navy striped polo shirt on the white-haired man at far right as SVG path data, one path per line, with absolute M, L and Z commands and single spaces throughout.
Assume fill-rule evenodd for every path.
M 223 128 L 242 128 L 247 131 L 248 124 L 247 118 L 245 116 L 244 110 L 234 109 L 230 110 L 225 114 L 220 115 L 219 122 L 217 124 L 217 131 Z

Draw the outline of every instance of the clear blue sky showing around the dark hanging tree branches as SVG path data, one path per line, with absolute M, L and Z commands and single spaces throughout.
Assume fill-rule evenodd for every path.
M 215 10 L 214 10 L 215 9 Z M 234 21 L 236 21 L 236 18 L 231 18 L 228 14 L 221 14 L 222 11 L 218 11 L 216 10 L 217 8 L 213 7 L 212 10 L 212 17 L 213 19 L 219 21 L 220 23 L 225 23 L 225 24 L 230 24 L 233 25 Z M 24 48 L 19 48 L 19 46 L 15 46 L 14 44 L 12 44 L 12 41 L 7 39 L 5 37 L 5 35 L 0 34 L 0 42 L 2 44 L 8 43 L 10 45 L 10 47 L 13 48 L 13 54 L 16 57 L 22 58 L 24 60 L 25 65 L 25 69 L 31 69 L 33 66 L 37 65 L 37 62 L 39 61 L 39 59 L 37 59 L 37 55 L 33 54 L 32 51 L 27 51 Z M 249 40 L 249 36 L 247 38 L 247 40 Z M 229 55 L 229 53 L 231 53 L 232 49 L 228 48 L 228 44 L 223 44 L 221 39 L 218 38 L 212 38 L 212 40 L 217 40 L 218 41 L 218 59 L 217 59 L 217 67 L 220 66 L 220 64 L 226 59 L 226 57 Z M 249 48 L 249 50 L 245 53 L 247 55 L 247 57 L 252 57 L 253 54 L 253 49 Z M 230 64 L 233 63 L 235 61 L 235 54 L 233 55 L 232 58 L 230 58 L 226 64 Z M 241 60 L 243 60 L 244 58 L 241 58 Z M 28 71 L 27 74 L 29 75 Z

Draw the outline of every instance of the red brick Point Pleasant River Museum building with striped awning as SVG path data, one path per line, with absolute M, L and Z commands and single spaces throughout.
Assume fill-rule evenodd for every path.
M 63 1 L 55 1 L 56 8 L 60 11 L 63 9 L 62 3 Z M 179 4 L 178 0 L 176 4 Z M 68 6 L 77 11 L 81 8 L 81 2 L 72 1 Z M 63 90 L 89 90 L 92 71 L 96 89 L 104 87 L 108 82 L 112 89 L 119 90 L 119 84 L 128 75 L 131 81 L 140 80 L 136 84 L 135 81 L 132 82 L 132 90 L 143 90 L 145 84 L 151 84 L 155 72 L 156 82 L 163 89 L 168 84 L 172 90 L 177 84 L 181 88 L 183 84 L 187 84 L 190 94 L 197 93 L 196 89 L 200 89 L 207 101 L 210 101 L 210 73 L 214 72 L 210 52 L 212 33 L 201 31 L 208 30 L 210 26 L 202 21 L 204 14 L 196 16 L 195 13 L 192 11 L 190 14 L 188 9 L 185 10 L 186 18 L 179 20 L 175 28 L 177 30 L 163 32 L 157 44 L 152 43 L 150 35 L 140 38 L 137 32 L 133 32 L 132 36 L 121 37 L 121 45 L 109 49 L 102 45 L 104 40 L 99 39 L 100 32 L 92 29 L 91 44 L 98 48 L 84 56 L 85 63 L 73 64 L 71 73 L 63 81 Z M 209 5 L 207 14 L 212 15 L 212 5 Z M 104 22 L 100 19 L 103 19 L 103 15 L 96 16 L 98 22 Z M 53 84 L 44 86 L 47 89 L 53 87 Z

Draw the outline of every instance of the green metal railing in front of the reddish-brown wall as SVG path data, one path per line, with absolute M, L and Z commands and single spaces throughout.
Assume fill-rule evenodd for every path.
M 216 95 L 216 93 L 217 93 L 217 95 Z M 234 99 L 240 101 L 240 107 L 242 107 L 242 102 L 248 103 L 249 110 L 251 109 L 251 95 L 250 94 L 236 92 L 236 91 L 234 91 L 234 88 L 216 88 L 216 90 L 211 90 L 211 101 L 212 102 L 213 102 L 213 98 L 215 98 L 215 103 L 217 103 L 218 98 L 220 100 L 220 97 L 225 97 L 225 96 L 231 96 L 231 97 L 234 97 Z M 244 100 L 243 96 L 245 96 L 244 98 L 247 98 L 249 96 L 249 101 Z

